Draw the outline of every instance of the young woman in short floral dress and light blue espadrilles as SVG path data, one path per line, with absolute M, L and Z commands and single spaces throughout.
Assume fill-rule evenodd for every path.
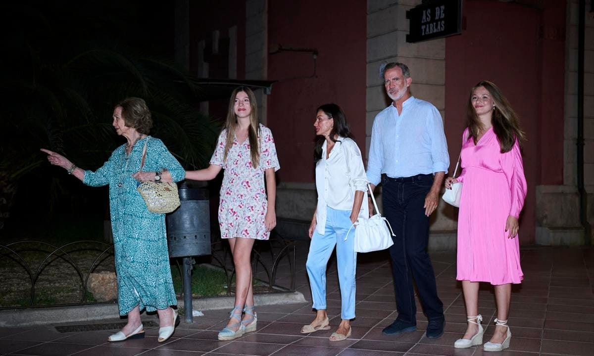
M 232 340 L 255 331 L 258 322 L 249 260 L 254 240 L 268 240 L 270 230 L 276 226 L 274 172 L 280 169 L 272 133 L 258 123 L 255 96 L 247 87 L 236 88 L 231 94 L 225 128 L 210 166 L 187 171 L 186 179 L 211 180 L 221 169 L 225 169 L 225 174 L 220 190 L 219 227 L 221 238 L 229 239 L 235 264 L 235 308 L 218 338 Z

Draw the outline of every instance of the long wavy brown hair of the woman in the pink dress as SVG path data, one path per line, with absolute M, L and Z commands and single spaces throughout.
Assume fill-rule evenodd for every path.
M 472 105 L 472 95 L 475 89 L 479 87 L 484 87 L 489 94 L 491 94 L 491 99 L 495 104 L 493 116 L 491 118 L 493 132 L 495 132 L 497 140 L 499 141 L 501 153 L 509 152 L 511 151 L 511 148 L 513 148 L 516 139 L 518 143 L 521 144 L 522 141 L 525 141 L 526 135 L 522 131 L 522 128 L 520 128 L 520 120 L 518 119 L 516 112 L 511 109 L 509 101 L 507 101 L 507 98 L 501 93 L 500 88 L 493 82 L 486 80 L 478 82 L 478 84 L 470 90 L 468 106 L 466 109 L 469 132 L 468 138 L 472 138 L 476 145 L 479 131 L 482 129 L 481 120 L 476 116 L 475 107 Z

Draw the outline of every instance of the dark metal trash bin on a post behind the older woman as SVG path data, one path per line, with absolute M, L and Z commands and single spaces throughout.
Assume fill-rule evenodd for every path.
M 192 256 L 210 255 L 210 205 L 208 189 L 179 186 L 179 208 L 168 214 L 167 243 L 169 257 L 182 257 L 185 322 L 192 323 Z

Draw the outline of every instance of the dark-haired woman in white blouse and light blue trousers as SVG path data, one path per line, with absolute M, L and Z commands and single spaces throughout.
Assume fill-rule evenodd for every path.
M 330 341 L 340 341 L 350 336 L 350 319 L 355 317 L 355 235 L 351 233 L 349 239 L 345 238 L 353 222 L 359 217 L 369 217 L 367 204 L 362 204 L 367 177 L 361 151 L 338 105 L 318 107 L 314 127 L 318 135 L 314 152 L 318 205 L 309 226 L 311 244 L 306 266 L 317 315 L 301 333 L 330 329 L 326 313 L 326 266 L 336 246 L 342 321 Z

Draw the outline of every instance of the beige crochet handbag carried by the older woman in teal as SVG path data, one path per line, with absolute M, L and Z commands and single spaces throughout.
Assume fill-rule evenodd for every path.
M 147 154 L 147 142 L 144 142 L 143 160 L 140 163 L 140 170 L 143 170 L 144 159 Z M 136 188 L 143 197 L 150 212 L 165 214 L 172 212 L 179 206 L 178 186 L 175 183 L 165 182 L 142 182 Z

